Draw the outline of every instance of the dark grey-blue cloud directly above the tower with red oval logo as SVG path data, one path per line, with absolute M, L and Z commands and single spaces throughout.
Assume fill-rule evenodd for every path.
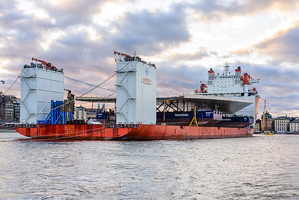
M 115 26 L 111 40 L 121 50 L 152 55 L 190 39 L 184 11 L 174 7 L 170 12 L 127 12 Z

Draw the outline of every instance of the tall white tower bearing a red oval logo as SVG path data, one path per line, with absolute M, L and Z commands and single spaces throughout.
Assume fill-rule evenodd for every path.
M 115 54 L 119 54 L 115 84 L 117 124 L 155 124 L 155 65 L 138 56 Z

